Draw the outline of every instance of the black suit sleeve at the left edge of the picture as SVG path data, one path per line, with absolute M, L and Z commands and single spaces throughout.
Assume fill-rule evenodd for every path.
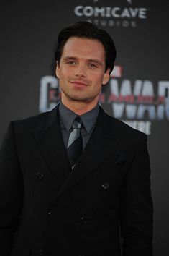
M 12 248 L 22 208 L 22 175 L 14 142 L 13 123 L 9 124 L 0 151 L 0 255 Z

